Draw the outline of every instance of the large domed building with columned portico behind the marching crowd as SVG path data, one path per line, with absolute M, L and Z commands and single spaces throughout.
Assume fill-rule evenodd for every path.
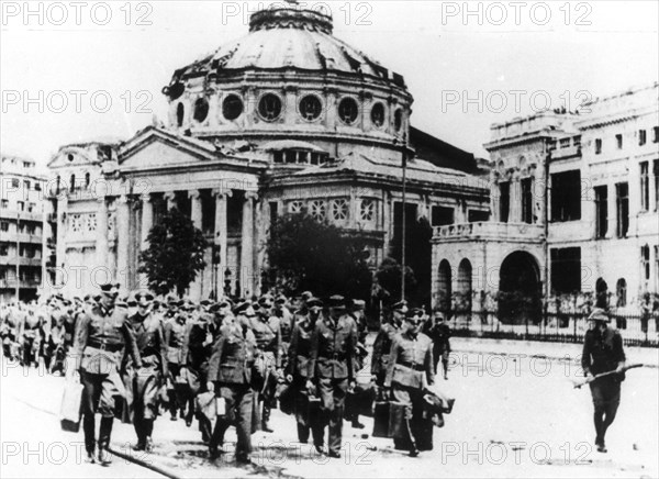
M 258 293 L 269 225 L 287 213 L 361 235 L 375 269 L 400 242 L 403 157 L 406 227 L 489 216 L 473 155 L 412 127 L 403 77 L 333 36 L 324 13 L 259 11 L 246 36 L 176 70 L 163 93 L 167 125 L 64 146 L 49 164 L 60 181 L 51 266 L 65 291 L 80 293 L 65 278 L 76 265 L 104 271 L 82 271 L 82 289 L 103 276 L 146 286 L 138 252 L 172 207 L 220 252 L 213 265 L 209 248 L 193 299 Z

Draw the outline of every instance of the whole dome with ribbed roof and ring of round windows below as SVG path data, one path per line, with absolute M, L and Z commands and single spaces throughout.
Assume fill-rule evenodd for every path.
M 313 10 L 254 13 L 246 36 L 175 71 L 163 91 L 170 127 L 214 144 L 292 141 L 326 152 L 272 151 L 273 163 L 321 163 L 355 148 L 398 155 L 414 101 L 403 77 L 332 30 L 332 18 Z

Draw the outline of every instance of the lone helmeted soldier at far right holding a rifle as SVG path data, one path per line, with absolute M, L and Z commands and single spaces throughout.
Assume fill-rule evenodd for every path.
M 618 374 L 595 379 L 590 383 L 594 405 L 595 446 L 600 453 L 606 453 L 604 436 L 613 423 L 621 402 L 621 382 L 625 380 L 625 352 L 623 337 L 617 330 L 610 326 L 611 318 L 600 308 L 595 308 L 589 321 L 592 327 L 583 339 L 581 367 L 587 377 L 602 372 Z

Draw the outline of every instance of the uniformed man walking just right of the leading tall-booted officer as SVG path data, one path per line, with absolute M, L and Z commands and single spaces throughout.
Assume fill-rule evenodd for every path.
M 169 376 L 163 323 L 150 312 L 153 299 L 148 292 L 135 294 L 137 312 L 129 319 L 142 358 L 142 369 L 132 378 L 130 391 L 132 420 L 137 434 L 137 444 L 133 448 L 146 452 L 153 449 L 152 435 L 158 412 L 160 381 Z

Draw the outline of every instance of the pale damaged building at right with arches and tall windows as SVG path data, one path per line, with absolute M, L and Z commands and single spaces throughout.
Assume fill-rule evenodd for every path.
M 658 98 L 654 83 L 578 114 L 492 125 L 492 219 L 435 229 L 435 305 L 455 308 L 451 291 L 474 310 L 501 308 L 502 292 L 547 301 L 591 293 L 637 314 L 659 293 Z

